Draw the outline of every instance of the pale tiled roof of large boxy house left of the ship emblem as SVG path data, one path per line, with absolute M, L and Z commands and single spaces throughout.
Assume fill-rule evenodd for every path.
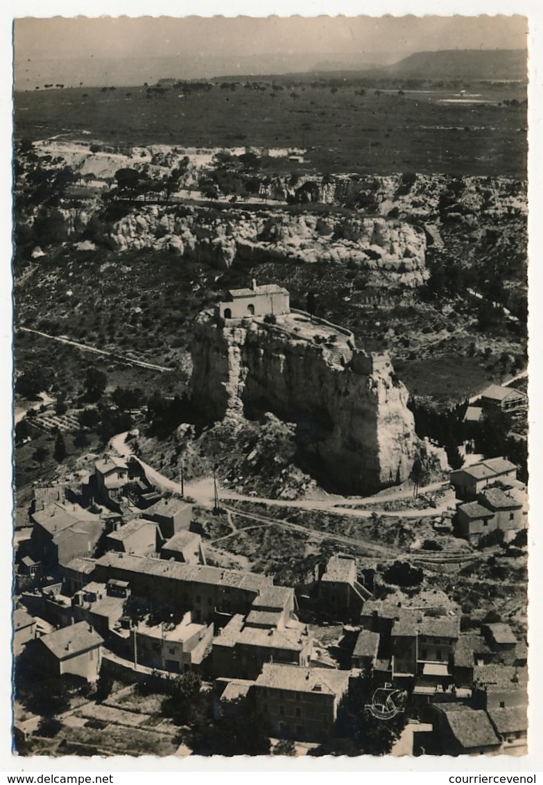
M 350 670 L 329 668 L 301 668 L 297 665 L 264 663 L 257 678 L 257 687 L 293 692 L 311 692 L 341 696 L 348 688 Z

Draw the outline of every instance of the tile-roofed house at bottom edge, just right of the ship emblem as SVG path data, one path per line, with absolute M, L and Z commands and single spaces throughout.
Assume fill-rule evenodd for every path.
M 443 754 L 497 754 L 501 741 L 487 712 L 464 703 L 434 703 L 433 732 Z

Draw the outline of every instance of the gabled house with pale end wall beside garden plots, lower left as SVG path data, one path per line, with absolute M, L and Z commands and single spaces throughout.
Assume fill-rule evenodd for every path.
M 73 674 L 96 681 L 100 671 L 102 637 L 86 622 L 78 622 L 37 638 L 35 657 L 44 673 Z

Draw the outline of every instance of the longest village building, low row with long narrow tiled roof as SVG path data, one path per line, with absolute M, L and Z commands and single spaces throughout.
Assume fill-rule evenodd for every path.
M 197 622 L 215 612 L 246 615 L 257 594 L 273 585 L 267 575 L 253 572 L 111 552 L 97 559 L 95 571 L 96 580 L 110 578 L 129 582 L 133 594 L 157 606 L 193 609 Z

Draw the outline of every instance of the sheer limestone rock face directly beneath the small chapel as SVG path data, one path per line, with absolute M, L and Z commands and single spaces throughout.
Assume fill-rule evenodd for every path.
M 387 356 L 253 319 L 218 327 L 202 313 L 192 360 L 193 395 L 210 420 L 271 411 L 295 422 L 301 460 L 325 487 L 366 494 L 409 475 L 418 440 Z

